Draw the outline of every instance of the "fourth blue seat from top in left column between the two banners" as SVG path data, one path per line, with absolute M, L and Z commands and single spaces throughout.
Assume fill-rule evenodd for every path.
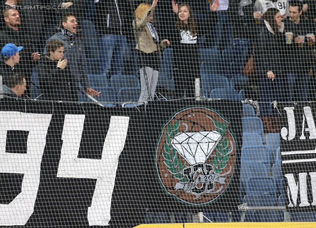
M 246 146 L 241 148 L 242 161 L 261 161 L 265 164 L 270 164 L 270 154 L 266 146 Z

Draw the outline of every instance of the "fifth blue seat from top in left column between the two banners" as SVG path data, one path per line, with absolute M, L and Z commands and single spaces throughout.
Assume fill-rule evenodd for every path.
M 269 168 L 261 161 L 242 161 L 240 165 L 240 193 L 246 193 L 246 183 L 250 177 L 268 177 Z

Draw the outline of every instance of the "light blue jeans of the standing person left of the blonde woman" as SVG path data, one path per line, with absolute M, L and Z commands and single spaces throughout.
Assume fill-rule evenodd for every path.
M 100 37 L 101 71 L 106 75 L 121 75 L 124 70 L 124 56 L 128 50 L 126 38 L 117 35 Z

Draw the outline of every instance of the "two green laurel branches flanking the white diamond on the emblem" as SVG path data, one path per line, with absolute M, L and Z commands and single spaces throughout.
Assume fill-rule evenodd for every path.
M 222 140 L 216 146 L 216 155 L 213 157 L 212 164 L 214 166 L 215 173 L 220 173 L 225 168 L 227 161 L 229 160 L 231 147 L 228 144 L 228 138 L 226 138 L 226 131 L 228 125 L 225 122 L 218 122 L 213 119 L 216 126 L 216 131 L 222 136 Z M 171 146 L 171 139 L 178 133 L 180 121 L 175 124 L 169 124 L 167 126 L 167 132 L 165 133 L 165 143 L 163 145 L 162 156 L 164 158 L 164 164 L 168 167 L 169 172 L 178 179 L 181 183 L 188 183 L 189 179 L 183 176 L 183 169 L 187 166 L 182 163 L 181 159 L 177 156 L 177 151 Z

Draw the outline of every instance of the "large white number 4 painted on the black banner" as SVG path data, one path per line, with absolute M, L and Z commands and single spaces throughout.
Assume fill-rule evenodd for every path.
M 88 209 L 90 226 L 109 225 L 118 157 L 124 149 L 128 122 L 127 116 L 111 116 L 102 159 L 88 159 L 78 158 L 84 115 L 65 116 L 57 177 L 97 179 L 91 207 Z

